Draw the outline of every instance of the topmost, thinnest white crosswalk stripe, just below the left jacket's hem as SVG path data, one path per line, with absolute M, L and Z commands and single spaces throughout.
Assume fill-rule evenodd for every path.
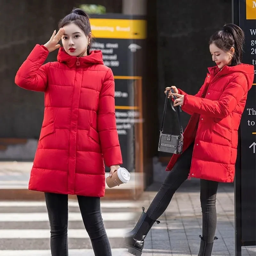
M 77 201 L 68 201 L 69 206 L 78 207 Z M 41 207 L 45 206 L 44 201 L 2 201 L 0 207 Z M 140 207 L 139 203 L 136 202 L 100 202 L 101 208 L 133 208 Z

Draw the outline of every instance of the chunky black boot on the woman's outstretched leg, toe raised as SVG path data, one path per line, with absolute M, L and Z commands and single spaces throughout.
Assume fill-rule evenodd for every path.
M 160 223 L 159 220 L 152 220 L 148 217 L 147 213 L 144 212 L 145 208 L 142 207 L 142 213 L 132 231 L 125 235 L 125 247 L 128 248 L 128 252 L 133 255 L 140 256 L 144 247 L 144 239 L 147 236 L 150 228 L 156 222 Z

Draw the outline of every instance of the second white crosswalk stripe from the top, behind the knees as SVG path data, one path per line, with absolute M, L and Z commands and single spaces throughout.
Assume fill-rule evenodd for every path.
M 135 213 L 133 212 L 102 212 L 103 221 L 128 221 L 134 220 Z M 29 213 L 0 213 L 0 222 L 3 221 L 48 221 L 49 217 L 47 212 L 29 212 Z M 82 220 L 80 212 L 69 212 L 69 221 Z

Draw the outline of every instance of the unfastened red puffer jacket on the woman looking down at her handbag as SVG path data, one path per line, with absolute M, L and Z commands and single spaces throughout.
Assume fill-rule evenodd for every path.
M 254 66 L 240 64 L 221 70 L 216 66 L 208 70 L 210 73 L 195 96 L 179 89 L 184 95 L 182 109 L 192 115 L 184 131 L 183 151 L 195 141 L 188 177 L 233 182 L 237 131 L 252 87 Z M 172 156 L 166 171 L 179 157 Z

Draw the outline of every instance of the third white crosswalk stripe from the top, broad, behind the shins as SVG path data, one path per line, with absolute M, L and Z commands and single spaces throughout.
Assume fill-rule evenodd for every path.
M 129 229 L 127 228 L 106 228 L 108 238 L 123 237 Z M 25 238 L 39 239 L 49 238 L 50 230 L 47 229 L 1 229 L 0 239 Z M 89 238 L 85 229 L 68 229 L 68 238 Z M 1 255 L 2 256 L 2 255 Z

